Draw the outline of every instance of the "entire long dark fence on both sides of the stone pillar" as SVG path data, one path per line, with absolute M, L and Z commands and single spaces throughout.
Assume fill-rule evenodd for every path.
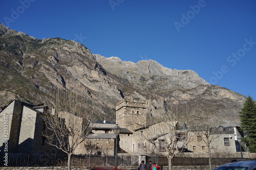
M 5 166 L 6 158 L 0 154 L 0 166 Z M 8 154 L 8 166 L 67 166 L 67 154 Z M 162 156 L 146 156 L 146 161 L 151 160 L 158 165 L 167 166 L 168 159 Z M 212 165 L 228 163 L 232 158 L 211 158 Z M 137 155 L 118 155 L 119 166 L 137 166 L 139 159 Z M 208 158 L 178 158 L 172 159 L 174 166 L 200 166 L 208 165 Z M 114 155 L 73 155 L 71 166 L 114 166 Z

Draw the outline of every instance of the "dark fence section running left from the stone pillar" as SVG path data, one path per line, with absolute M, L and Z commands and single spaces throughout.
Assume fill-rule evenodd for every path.
M 27 154 L 27 153 L 9 153 L 5 158 L 0 154 L 0 166 L 67 166 L 67 154 Z M 119 166 L 138 165 L 137 155 L 119 155 Z M 73 155 L 71 166 L 114 166 L 114 155 Z

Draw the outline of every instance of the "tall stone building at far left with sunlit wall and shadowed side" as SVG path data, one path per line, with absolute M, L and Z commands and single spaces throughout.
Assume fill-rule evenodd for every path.
M 8 146 L 13 153 L 45 153 L 56 151 L 42 136 L 46 124 L 41 113 L 46 106 L 12 101 L 0 113 L 0 150 Z

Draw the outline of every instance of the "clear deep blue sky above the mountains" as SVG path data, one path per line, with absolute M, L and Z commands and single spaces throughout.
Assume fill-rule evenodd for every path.
M 192 69 L 256 100 L 256 1 L 0 0 L 0 22 L 93 54 Z

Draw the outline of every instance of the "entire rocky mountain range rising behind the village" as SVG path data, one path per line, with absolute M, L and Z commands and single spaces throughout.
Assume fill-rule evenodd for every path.
M 245 96 L 210 85 L 193 70 L 163 67 L 154 60 L 105 58 L 82 44 L 61 38 L 42 40 L 0 23 L 0 107 L 17 99 L 47 103 L 51 89 L 69 89 L 85 96 L 102 117 L 115 118 L 123 98 L 148 101 L 152 116 L 171 104 L 187 104 L 191 113 L 215 108 L 224 125 L 239 124 Z M 95 109 L 96 108 L 96 109 Z

